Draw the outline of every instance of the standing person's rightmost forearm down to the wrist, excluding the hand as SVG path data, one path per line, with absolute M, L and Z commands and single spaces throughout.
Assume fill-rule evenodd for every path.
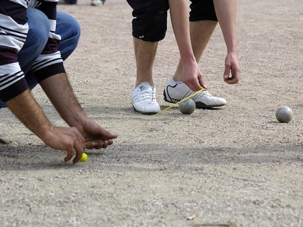
M 238 52 L 236 38 L 236 0 L 214 0 L 215 11 L 221 27 L 227 52 Z

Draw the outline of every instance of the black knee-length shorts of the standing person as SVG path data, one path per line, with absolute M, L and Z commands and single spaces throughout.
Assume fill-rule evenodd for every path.
M 212 0 L 190 0 L 190 21 L 217 21 Z M 147 42 L 163 40 L 167 30 L 168 0 L 127 0 L 132 7 L 132 36 Z

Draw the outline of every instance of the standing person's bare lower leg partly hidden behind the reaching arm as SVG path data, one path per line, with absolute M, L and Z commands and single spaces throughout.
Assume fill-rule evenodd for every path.
M 202 53 L 212 36 L 217 21 L 192 21 L 190 22 L 190 40 L 193 47 L 193 54 L 197 62 L 200 62 Z M 175 81 L 182 81 L 182 65 L 179 61 L 176 72 L 173 76 Z

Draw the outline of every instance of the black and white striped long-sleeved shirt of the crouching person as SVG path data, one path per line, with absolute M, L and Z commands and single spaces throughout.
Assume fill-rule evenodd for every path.
M 58 0 L 0 0 L 0 98 L 6 102 L 28 88 L 17 54 L 28 35 L 26 9 L 38 8 L 50 21 L 45 48 L 31 70 L 38 82 L 64 72 L 58 51 L 61 37 L 55 33 Z

